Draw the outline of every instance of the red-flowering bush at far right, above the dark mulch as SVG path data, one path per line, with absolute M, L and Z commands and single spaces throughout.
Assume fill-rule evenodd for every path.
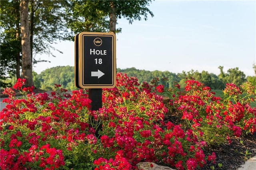
M 240 88 L 226 84 L 220 98 L 204 84 L 187 80 L 186 93 L 174 97 L 170 105 L 180 111 L 182 119 L 200 141 L 220 145 L 230 143 L 232 135 L 240 137 L 256 132 L 256 108 L 250 106 L 256 101 L 253 89 L 248 82 Z M 176 92 L 179 91 L 176 89 Z

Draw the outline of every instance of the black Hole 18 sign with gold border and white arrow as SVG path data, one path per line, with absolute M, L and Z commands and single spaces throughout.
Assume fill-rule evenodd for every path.
M 116 86 L 116 35 L 82 32 L 75 36 L 75 85 L 78 88 Z

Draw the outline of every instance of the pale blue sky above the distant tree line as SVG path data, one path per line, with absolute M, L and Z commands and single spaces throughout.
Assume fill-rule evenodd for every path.
M 154 17 L 129 24 L 118 19 L 116 35 L 117 68 L 160 70 L 182 73 L 191 70 L 220 74 L 238 67 L 246 76 L 255 76 L 256 1 L 155 0 L 148 8 Z M 38 74 L 55 66 L 74 66 L 74 42 L 54 45 L 63 54 L 36 55 L 33 70 Z

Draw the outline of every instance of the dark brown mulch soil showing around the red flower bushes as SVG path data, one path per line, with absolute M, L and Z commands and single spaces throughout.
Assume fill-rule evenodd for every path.
M 2 94 L 0 90 L 0 98 L 8 96 Z M 34 89 L 34 93 L 46 92 L 41 89 Z M 16 96 L 21 94 L 16 91 Z M 166 116 L 165 121 L 171 121 L 175 124 L 180 124 L 181 117 L 177 114 L 170 113 Z M 230 145 L 211 146 L 204 149 L 205 155 L 210 155 L 212 152 L 216 154 L 216 164 L 207 162 L 201 170 L 210 170 L 210 166 L 214 166 L 215 170 L 236 170 L 248 159 L 256 155 L 256 133 L 254 135 L 245 135 L 241 137 L 231 137 Z M 247 155 L 246 155 L 247 152 Z M 219 167 L 218 164 L 221 166 Z

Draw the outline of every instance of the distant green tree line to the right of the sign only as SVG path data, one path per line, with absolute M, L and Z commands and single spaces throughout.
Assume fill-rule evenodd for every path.
M 126 69 L 117 69 L 117 72 L 126 73 L 128 76 L 135 76 L 138 78 L 138 82 L 150 82 L 153 78 L 160 78 L 160 84 L 163 84 L 166 88 L 171 88 L 174 83 L 180 84 L 180 87 L 185 87 L 185 82 L 189 78 L 193 78 L 203 83 L 205 86 L 215 90 L 223 90 L 226 83 L 234 83 L 236 86 L 240 86 L 245 82 L 251 82 L 256 87 L 256 67 L 254 65 L 255 76 L 247 76 L 244 72 L 240 71 L 238 67 L 228 69 L 227 73 L 223 71 L 223 66 L 218 67 L 220 74 L 216 75 L 207 71 L 198 72 L 197 70 L 190 70 L 188 72 L 182 71 L 182 73 L 172 73 L 169 71 L 146 71 L 138 70 L 134 67 Z

